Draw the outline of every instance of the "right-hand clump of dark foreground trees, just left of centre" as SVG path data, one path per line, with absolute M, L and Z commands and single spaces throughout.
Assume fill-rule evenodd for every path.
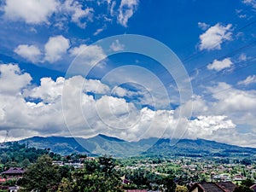
M 84 169 L 75 170 L 71 179 L 62 179 L 58 192 L 121 192 L 120 178 L 114 171 L 111 157 L 85 162 Z

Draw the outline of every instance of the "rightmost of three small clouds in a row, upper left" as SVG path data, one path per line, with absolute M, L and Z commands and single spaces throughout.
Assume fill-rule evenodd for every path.
M 81 44 L 79 47 L 74 47 L 69 50 L 72 56 L 78 56 L 81 64 L 85 66 L 94 66 L 96 61 L 102 61 L 107 55 L 105 55 L 102 47 L 98 45 L 86 45 Z

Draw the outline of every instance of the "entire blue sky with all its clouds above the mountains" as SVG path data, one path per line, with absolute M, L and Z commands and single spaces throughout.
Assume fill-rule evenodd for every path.
M 0 142 L 256 147 L 256 1 L 1 0 Z

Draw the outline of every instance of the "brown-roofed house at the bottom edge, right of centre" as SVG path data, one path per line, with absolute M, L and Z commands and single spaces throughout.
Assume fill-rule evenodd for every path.
M 232 182 L 201 182 L 189 188 L 189 192 L 233 192 L 236 184 Z

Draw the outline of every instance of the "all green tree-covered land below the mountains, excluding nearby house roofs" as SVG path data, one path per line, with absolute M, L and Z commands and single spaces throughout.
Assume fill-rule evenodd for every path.
M 22 179 L 11 179 L 2 186 L 18 184 L 19 191 L 38 192 L 121 192 L 125 189 L 151 189 L 165 192 L 185 192 L 187 183 L 213 181 L 225 175 L 247 177 L 237 182 L 236 192 L 252 191 L 255 183 L 255 157 L 180 157 L 138 156 L 115 160 L 111 156 L 87 159 L 85 154 L 61 156 L 49 149 L 27 148 L 26 144 L 9 143 L 0 149 L 1 169 L 22 166 L 26 173 Z M 28 154 L 27 154 L 28 153 Z M 30 156 L 31 155 L 31 156 Z M 37 160 L 35 160 L 38 158 Z M 53 160 L 59 160 L 61 166 Z M 70 162 L 79 162 L 75 167 Z M 125 182 L 124 182 L 125 181 Z M 235 181 L 234 181 L 235 182 Z

